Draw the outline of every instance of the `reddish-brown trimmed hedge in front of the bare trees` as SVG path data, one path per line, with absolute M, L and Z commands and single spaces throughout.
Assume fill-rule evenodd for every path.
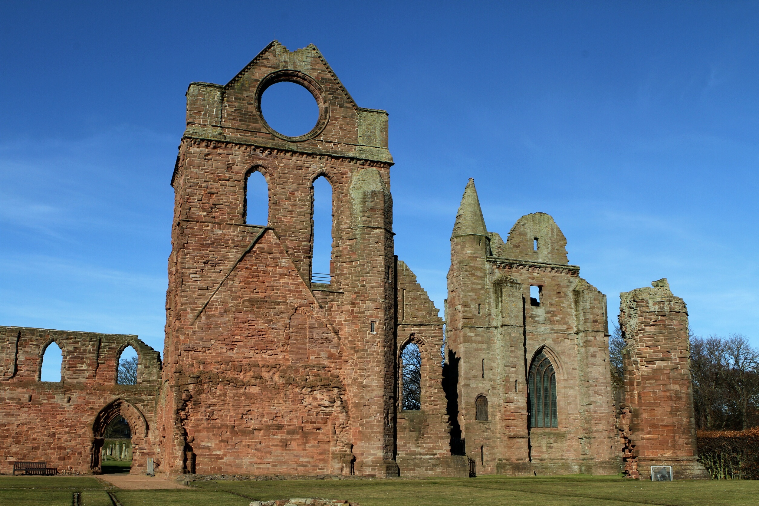
M 699 431 L 698 460 L 712 479 L 759 479 L 759 427 Z

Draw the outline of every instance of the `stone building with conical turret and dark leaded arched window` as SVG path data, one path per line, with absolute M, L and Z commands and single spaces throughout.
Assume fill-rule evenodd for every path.
M 470 179 L 451 237 L 446 328 L 461 438 L 477 473 L 619 469 L 606 297 L 568 265 L 565 244 L 544 213 L 520 218 L 504 243 L 487 231 Z M 531 427 L 528 371 L 541 354 L 555 371 L 556 426 Z M 480 396 L 487 420 L 477 413 Z

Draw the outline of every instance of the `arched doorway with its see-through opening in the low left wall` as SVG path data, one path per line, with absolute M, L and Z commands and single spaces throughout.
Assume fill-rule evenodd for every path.
M 133 469 L 138 457 L 134 449 L 144 442 L 146 429 L 142 413 L 128 402 L 116 399 L 102 408 L 93 423 L 93 473 L 128 473 Z

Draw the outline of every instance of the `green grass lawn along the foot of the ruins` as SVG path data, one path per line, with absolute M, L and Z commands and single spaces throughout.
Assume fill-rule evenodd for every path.
M 759 480 L 649 482 L 618 476 L 449 479 L 323 479 L 191 482 L 183 490 L 118 490 L 97 479 L 68 476 L 0 476 L 0 505 L 71 505 L 74 492 L 83 506 L 112 506 L 106 490 L 123 506 L 247 506 L 257 499 L 320 497 L 347 499 L 361 506 L 690 506 L 759 504 Z

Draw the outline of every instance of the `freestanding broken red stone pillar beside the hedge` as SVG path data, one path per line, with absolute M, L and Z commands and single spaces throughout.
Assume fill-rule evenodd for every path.
M 650 466 L 671 465 L 676 479 L 708 479 L 697 460 L 688 310 L 666 279 L 651 285 L 619 294 L 625 473 L 650 479 Z

